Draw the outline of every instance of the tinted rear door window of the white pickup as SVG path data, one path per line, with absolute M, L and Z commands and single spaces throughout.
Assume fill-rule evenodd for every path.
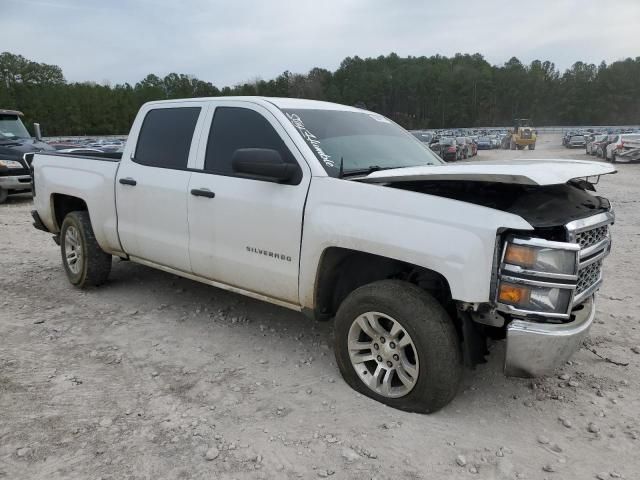
M 200 107 L 159 108 L 144 117 L 135 162 L 150 167 L 187 168 Z

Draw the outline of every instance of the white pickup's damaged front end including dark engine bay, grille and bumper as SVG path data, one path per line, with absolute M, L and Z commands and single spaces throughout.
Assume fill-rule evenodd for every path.
M 590 193 L 593 183 L 424 179 L 388 185 L 517 214 L 533 227 L 498 232 L 490 301 L 459 305 L 476 325 L 463 322 L 469 363 L 481 360 L 485 335 L 506 337 L 504 370 L 511 376 L 548 374 L 580 348 L 595 317 L 615 220 L 609 201 Z

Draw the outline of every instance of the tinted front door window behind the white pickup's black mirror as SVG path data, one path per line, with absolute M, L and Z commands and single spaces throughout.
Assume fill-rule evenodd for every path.
M 220 175 L 234 175 L 231 158 L 239 148 L 270 148 L 280 152 L 285 162 L 297 163 L 278 132 L 258 112 L 238 107 L 216 108 L 204 169 Z

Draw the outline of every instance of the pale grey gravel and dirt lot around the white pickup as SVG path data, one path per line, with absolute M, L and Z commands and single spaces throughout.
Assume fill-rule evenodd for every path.
M 479 159 L 585 158 L 559 144 Z M 590 343 L 629 365 L 582 349 L 556 376 L 505 378 L 496 343 L 429 416 L 350 390 L 330 322 L 129 262 L 74 289 L 31 227 L 31 200 L 12 198 L 0 206 L 0 478 L 639 478 L 639 181 L 640 165 L 621 165 L 599 186 L 618 221 Z

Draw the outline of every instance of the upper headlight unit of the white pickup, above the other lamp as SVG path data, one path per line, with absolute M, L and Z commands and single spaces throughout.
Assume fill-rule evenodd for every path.
M 516 238 L 507 244 L 503 259 L 506 265 L 515 265 L 540 273 L 575 275 L 579 247 L 560 249 L 545 245 L 553 242 L 541 241 L 540 245 L 524 245 L 518 242 L 519 239 Z

